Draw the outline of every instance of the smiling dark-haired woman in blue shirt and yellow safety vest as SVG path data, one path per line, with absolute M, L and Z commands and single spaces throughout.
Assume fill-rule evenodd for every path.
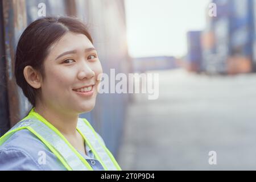
M 32 22 L 16 48 L 15 77 L 33 107 L 0 138 L 0 169 L 121 170 L 100 135 L 79 118 L 95 105 L 101 73 L 79 19 Z

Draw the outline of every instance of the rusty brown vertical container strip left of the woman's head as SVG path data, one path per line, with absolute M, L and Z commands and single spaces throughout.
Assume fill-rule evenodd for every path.
M 26 2 L 24 0 L 3 1 L 3 18 L 10 126 L 14 126 L 20 119 L 19 91 L 14 77 L 15 40 L 27 25 Z

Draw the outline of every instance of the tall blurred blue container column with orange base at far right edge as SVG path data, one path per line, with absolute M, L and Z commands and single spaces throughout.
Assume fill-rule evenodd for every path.
M 230 18 L 230 56 L 228 73 L 249 73 L 253 70 L 253 10 L 251 0 L 232 1 Z

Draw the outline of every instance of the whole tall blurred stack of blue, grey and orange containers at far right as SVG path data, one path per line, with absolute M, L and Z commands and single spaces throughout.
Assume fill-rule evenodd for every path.
M 207 27 L 201 32 L 201 71 L 230 75 L 255 71 L 256 1 L 213 0 L 212 3 L 216 5 L 217 16 L 210 16 L 207 7 Z M 191 43 L 195 40 L 188 41 L 188 47 L 195 44 Z M 192 61 L 191 50 L 188 49 L 188 63 Z

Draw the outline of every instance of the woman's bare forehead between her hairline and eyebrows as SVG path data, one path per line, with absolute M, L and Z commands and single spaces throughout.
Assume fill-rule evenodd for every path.
M 52 44 L 49 49 L 49 56 L 56 56 L 65 51 L 83 51 L 90 47 L 94 46 L 84 34 L 67 32 L 62 38 Z

